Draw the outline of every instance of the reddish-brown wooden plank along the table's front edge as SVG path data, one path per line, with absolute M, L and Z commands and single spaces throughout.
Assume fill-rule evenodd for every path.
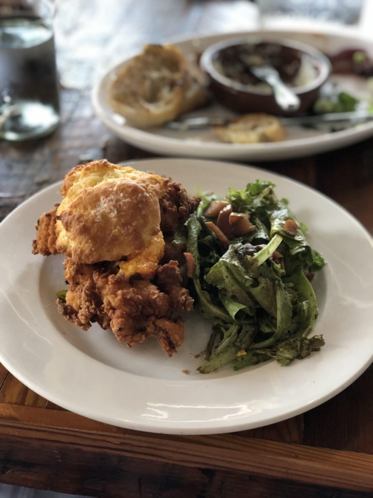
M 0 440 L 35 449 L 80 448 L 137 460 L 248 473 L 303 484 L 373 492 L 373 455 L 235 434 L 179 436 L 137 432 L 63 410 L 0 403 Z

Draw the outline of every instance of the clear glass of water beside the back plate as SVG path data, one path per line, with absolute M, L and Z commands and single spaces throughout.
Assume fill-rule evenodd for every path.
M 53 14 L 48 0 L 0 0 L 0 138 L 38 138 L 59 124 Z

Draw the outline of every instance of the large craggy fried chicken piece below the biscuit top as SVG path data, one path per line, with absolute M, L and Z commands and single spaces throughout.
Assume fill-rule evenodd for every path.
M 193 299 L 181 286 L 177 261 L 158 269 L 157 286 L 150 280 L 128 281 L 110 263 L 77 264 L 65 259 L 65 278 L 70 287 L 66 303 L 57 301 L 58 311 L 83 330 L 92 322 L 111 328 L 118 341 L 135 346 L 155 337 L 172 356 L 184 340 L 184 325 L 175 312 L 190 311 Z

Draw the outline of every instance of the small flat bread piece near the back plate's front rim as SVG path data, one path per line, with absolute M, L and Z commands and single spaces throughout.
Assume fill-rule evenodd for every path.
M 279 142 L 286 138 L 280 121 L 268 114 L 245 114 L 226 125 L 213 127 L 214 133 L 223 142 L 260 143 Z

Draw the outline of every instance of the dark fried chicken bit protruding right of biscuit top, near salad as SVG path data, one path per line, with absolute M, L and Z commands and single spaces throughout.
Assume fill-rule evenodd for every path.
M 188 215 L 196 210 L 199 201 L 196 197 L 189 197 L 184 187 L 169 179 L 166 194 L 159 200 L 163 234 L 174 234 L 181 228 Z

